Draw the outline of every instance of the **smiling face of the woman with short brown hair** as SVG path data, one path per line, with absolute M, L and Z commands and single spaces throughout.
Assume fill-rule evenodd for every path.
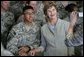
M 47 9 L 47 16 L 49 17 L 49 19 L 55 19 L 57 17 L 57 11 L 54 6 Z

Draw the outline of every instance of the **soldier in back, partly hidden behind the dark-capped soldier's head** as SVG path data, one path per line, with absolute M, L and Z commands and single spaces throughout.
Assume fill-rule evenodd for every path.
M 45 23 L 42 2 L 28 1 L 27 4 L 34 8 L 35 21 L 42 26 Z M 23 16 L 20 16 L 17 20 L 17 23 L 23 21 L 23 18 L 24 18 Z

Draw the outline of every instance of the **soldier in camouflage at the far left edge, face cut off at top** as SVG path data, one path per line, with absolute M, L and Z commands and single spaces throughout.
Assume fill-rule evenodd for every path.
M 6 48 L 7 35 L 13 26 L 14 15 L 9 12 L 10 1 L 1 1 L 1 41 Z

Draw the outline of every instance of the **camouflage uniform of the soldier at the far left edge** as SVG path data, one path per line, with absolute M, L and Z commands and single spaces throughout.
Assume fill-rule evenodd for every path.
M 1 12 L 1 41 L 6 46 L 7 35 L 13 26 L 14 15 L 11 12 Z

